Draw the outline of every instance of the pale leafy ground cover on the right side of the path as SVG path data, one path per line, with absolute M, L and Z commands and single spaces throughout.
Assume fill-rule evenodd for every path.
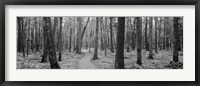
M 107 53 L 104 55 L 103 51 L 99 52 L 99 60 L 93 61 L 101 69 L 114 69 L 114 58 L 115 53 Z M 124 65 L 126 69 L 172 69 L 171 67 L 166 67 L 172 61 L 172 51 L 158 51 L 157 54 L 154 53 L 154 60 L 147 59 L 149 55 L 148 51 L 142 51 L 142 65 L 136 64 L 137 62 L 137 52 L 125 52 L 124 53 Z M 183 62 L 183 53 L 179 52 L 179 60 Z M 183 69 L 183 67 L 179 67 Z

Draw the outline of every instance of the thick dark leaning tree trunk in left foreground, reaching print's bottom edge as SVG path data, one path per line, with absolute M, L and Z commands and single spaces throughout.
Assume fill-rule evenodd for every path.
M 47 53 L 48 53 L 51 69 L 60 69 L 60 66 L 56 58 L 55 43 L 53 40 L 54 38 L 53 30 L 51 29 L 51 18 L 44 17 L 43 21 L 44 21 L 43 31 L 44 31 L 44 35 L 46 36 L 45 40 L 47 43 L 45 47 L 47 47 Z

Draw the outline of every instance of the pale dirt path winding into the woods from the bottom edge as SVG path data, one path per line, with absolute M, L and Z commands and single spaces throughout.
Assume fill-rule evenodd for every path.
M 79 69 L 98 69 L 98 67 L 91 61 L 93 55 L 86 53 L 79 61 Z

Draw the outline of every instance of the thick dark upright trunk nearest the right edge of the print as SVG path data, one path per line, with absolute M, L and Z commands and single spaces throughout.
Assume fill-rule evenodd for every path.
M 173 50 L 173 61 L 178 62 L 178 48 L 179 48 L 179 41 L 180 41 L 180 36 L 179 36 L 179 18 L 174 17 L 174 50 Z

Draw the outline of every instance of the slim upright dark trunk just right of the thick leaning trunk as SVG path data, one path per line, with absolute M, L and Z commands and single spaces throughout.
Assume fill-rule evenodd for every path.
M 60 17 L 58 61 L 62 61 L 62 17 Z

